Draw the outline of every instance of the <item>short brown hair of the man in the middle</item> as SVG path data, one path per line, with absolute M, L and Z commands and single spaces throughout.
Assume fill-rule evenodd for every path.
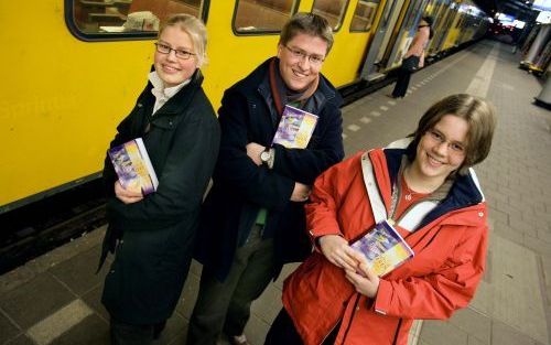
M 281 30 L 279 43 L 287 45 L 294 36 L 300 33 L 305 33 L 315 37 L 320 37 L 327 43 L 328 54 L 333 46 L 333 29 L 331 29 L 327 20 L 321 15 L 306 12 L 295 13 Z

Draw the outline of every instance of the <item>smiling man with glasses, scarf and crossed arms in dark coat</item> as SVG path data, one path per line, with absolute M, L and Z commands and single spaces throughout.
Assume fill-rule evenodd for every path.
M 203 273 L 190 345 L 214 345 L 223 333 L 233 344 L 248 344 L 244 328 L 252 301 L 284 262 L 311 252 L 304 203 L 317 175 L 344 157 L 343 100 L 320 73 L 332 44 L 324 18 L 296 13 L 282 29 L 277 56 L 224 94 L 220 154 L 202 212 Z M 318 116 L 305 149 L 272 145 L 287 105 Z

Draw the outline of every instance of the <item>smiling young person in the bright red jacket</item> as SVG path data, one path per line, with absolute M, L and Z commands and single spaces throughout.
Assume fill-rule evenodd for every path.
M 471 166 L 488 155 L 495 125 L 486 101 L 449 96 L 409 140 L 324 172 L 306 205 L 316 250 L 287 279 L 267 344 L 407 344 L 414 319 L 447 319 L 466 306 L 484 272 L 488 230 Z M 388 218 L 414 251 L 380 278 L 349 246 L 375 226 L 369 171 Z M 422 217 L 419 208 L 409 212 L 422 203 L 434 206 Z M 402 222 L 414 216 L 417 223 Z

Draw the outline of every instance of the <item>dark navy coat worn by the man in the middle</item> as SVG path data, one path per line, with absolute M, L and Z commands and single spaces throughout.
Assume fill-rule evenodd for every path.
M 274 238 L 274 276 L 285 262 L 302 260 L 309 250 L 304 203 L 291 202 L 294 183 L 312 185 L 324 170 L 344 157 L 343 99 L 320 75 L 316 97 L 318 121 L 306 149 L 274 145 L 273 169 L 258 166 L 246 145 L 270 147 L 279 115 L 274 110 L 268 68 L 270 60 L 245 79 L 227 89 L 218 110 L 222 128 L 220 152 L 201 217 L 196 258 L 223 281 L 234 254 L 241 246 L 261 207 L 268 209 L 264 234 Z M 299 239 L 302 239 L 299 240 Z

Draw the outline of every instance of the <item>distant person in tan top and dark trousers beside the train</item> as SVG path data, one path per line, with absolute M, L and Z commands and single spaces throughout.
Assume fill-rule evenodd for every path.
M 418 30 L 411 45 L 403 55 L 402 65 L 398 68 L 398 79 L 396 80 L 392 98 L 402 98 L 408 91 L 411 74 L 424 66 L 424 52 L 429 46 L 429 41 L 433 36 L 432 17 L 423 17 L 419 22 Z

